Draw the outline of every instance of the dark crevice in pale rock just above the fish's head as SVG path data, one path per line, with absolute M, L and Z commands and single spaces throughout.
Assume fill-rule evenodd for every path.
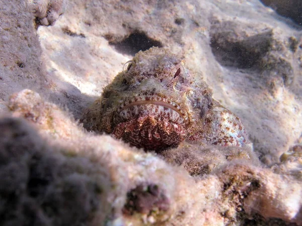
M 163 47 L 160 41 L 149 38 L 143 31 L 135 30 L 129 36 L 119 41 L 117 37 L 112 34 L 105 35 L 110 45 L 114 45 L 115 49 L 127 55 L 134 55 L 139 50 L 147 50 L 153 46 Z

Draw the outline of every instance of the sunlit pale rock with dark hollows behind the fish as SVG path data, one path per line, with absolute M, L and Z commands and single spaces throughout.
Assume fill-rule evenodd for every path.
M 213 89 L 214 99 L 242 119 L 263 162 L 277 162 L 299 138 L 301 34 L 258 1 L 79 0 L 67 9 L 55 26 L 41 27 L 38 34 L 48 96 L 75 117 L 137 48 L 157 45 L 185 59 Z

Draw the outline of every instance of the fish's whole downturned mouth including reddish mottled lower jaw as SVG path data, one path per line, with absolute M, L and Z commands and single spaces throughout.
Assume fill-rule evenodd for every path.
M 137 96 L 119 106 L 112 133 L 133 146 L 159 151 L 179 145 L 188 136 L 188 118 L 188 113 L 174 101 Z

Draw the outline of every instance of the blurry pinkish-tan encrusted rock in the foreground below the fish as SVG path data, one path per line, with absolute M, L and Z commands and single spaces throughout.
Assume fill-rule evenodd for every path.
M 30 90 L 13 95 L 9 106 L 34 128 L 21 119 L 0 120 L 5 225 L 302 223 L 300 179 L 285 171 L 274 173 L 239 158 L 225 165 L 220 160 L 211 174 L 192 178 L 155 154 L 85 132 Z M 194 150 L 187 155 L 194 158 Z M 225 155 L 211 155 L 252 157 L 232 147 Z

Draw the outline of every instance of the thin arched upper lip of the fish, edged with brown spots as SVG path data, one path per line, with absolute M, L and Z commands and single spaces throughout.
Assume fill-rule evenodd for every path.
M 133 98 L 130 98 L 128 100 L 125 100 L 122 102 L 122 104 L 117 109 L 117 113 L 120 113 L 121 111 L 131 107 L 131 106 L 137 106 L 137 105 L 145 105 L 145 104 L 153 104 L 153 105 L 159 105 L 163 107 L 170 108 L 174 111 L 176 111 L 185 122 L 185 125 L 189 124 L 189 117 L 187 111 L 183 111 L 179 104 L 177 104 L 174 101 L 171 101 L 167 98 L 159 97 L 159 96 L 136 96 Z

